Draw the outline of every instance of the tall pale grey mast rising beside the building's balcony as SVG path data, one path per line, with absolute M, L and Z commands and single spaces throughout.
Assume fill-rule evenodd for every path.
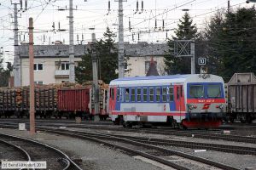
M 73 49 L 73 0 L 69 0 L 69 82 L 75 82 Z

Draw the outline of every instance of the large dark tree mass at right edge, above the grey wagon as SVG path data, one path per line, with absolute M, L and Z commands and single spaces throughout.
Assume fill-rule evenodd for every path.
M 256 10 L 216 14 L 206 29 L 211 71 L 228 81 L 235 72 L 256 73 Z

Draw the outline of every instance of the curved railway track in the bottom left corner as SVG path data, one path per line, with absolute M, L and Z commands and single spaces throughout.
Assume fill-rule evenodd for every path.
M 24 161 L 46 161 L 51 169 L 82 170 L 65 153 L 48 144 L 3 133 L 0 133 L 0 137 L 0 143 L 18 150 L 25 157 Z

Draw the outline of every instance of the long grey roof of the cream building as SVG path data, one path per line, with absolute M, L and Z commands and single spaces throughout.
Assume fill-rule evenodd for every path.
M 118 46 L 118 44 L 116 44 Z M 74 55 L 80 57 L 87 53 L 89 45 L 75 45 Z M 167 43 L 147 43 L 138 42 L 134 44 L 125 43 L 125 54 L 129 57 L 157 56 L 164 55 L 168 51 Z M 28 44 L 19 46 L 20 58 L 28 58 Z M 34 45 L 35 58 L 67 58 L 69 56 L 69 46 L 64 44 L 57 45 Z

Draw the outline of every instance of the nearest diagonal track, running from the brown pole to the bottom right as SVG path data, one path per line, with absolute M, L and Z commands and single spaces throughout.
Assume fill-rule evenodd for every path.
M 130 153 L 136 154 L 138 156 L 144 156 L 148 159 L 159 161 L 167 166 L 174 167 L 176 169 L 190 169 L 189 167 L 185 167 L 184 165 L 191 163 L 191 160 L 196 161 L 194 164 L 194 169 L 200 169 L 202 167 L 212 166 L 218 167 L 221 169 L 239 169 L 237 167 L 232 167 L 229 165 L 224 165 L 217 161 L 211 161 L 202 157 L 189 155 L 177 150 L 166 149 L 154 144 L 146 144 L 141 141 L 136 141 L 133 139 L 127 139 L 125 137 L 117 137 L 113 135 L 107 135 L 102 133 L 84 133 L 84 132 L 76 132 L 76 131 L 68 131 L 68 130 L 60 130 L 53 129 L 49 127 L 40 127 L 40 130 L 44 130 L 47 133 L 58 133 L 61 135 L 68 135 L 71 137 L 91 140 L 100 144 L 106 144 L 108 146 L 112 146 L 113 148 L 117 148 L 120 150 L 125 150 Z M 183 163 L 177 163 L 177 161 L 170 161 L 168 156 L 177 156 L 183 158 Z M 185 161 L 185 163 L 184 163 Z M 197 167 L 196 167 L 197 166 Z

